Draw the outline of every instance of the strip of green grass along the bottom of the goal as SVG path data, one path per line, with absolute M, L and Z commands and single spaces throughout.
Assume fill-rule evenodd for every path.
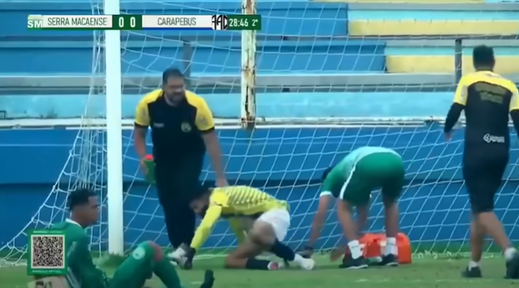
M 195 262 L 192 271 L 179 271 L 186 288 L 198 287 L 205 269 L 214 270 L 214 288 L 505 288 L 518 286 L 519 281 L 504 280 L 502 257 L 483 259 L 481 279 L 463 279 L 460 272 L 467 265 L 467 259 L 434 259 L 423 257 L 414 259 L 413 264 L 397 268 L 368 268 L 362 271 L 348 271 L 337 268 L 338 263 L 330 263 L 326 256 L 316 257 L 318 266 L 314 271 L 300 271 L 295 268 L 280 271 L 236 271 L 222 267 L 223 258 L 203 259 Z M 108 273 L 113 268 L 105 268 Z M 0 287 L 27 287 L 30 280 L 27 267 L 0 268 Z M 153 278 L 147 285 L 163 288 L 161 282 Z

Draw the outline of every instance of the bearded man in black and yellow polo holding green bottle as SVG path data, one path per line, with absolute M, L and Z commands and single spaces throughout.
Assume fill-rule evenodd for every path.
M 152 130 L 154 171 L 145 172 L 154 173 L 147 178 L 154 178 L 170 243 L 182 249 L 191 243 L 195 232 L 196 215 L 189 209 L 189 200 L 191 191 L 199 185 L 205 151 L 216 172 L 217 185 L 228 184 L 211 110 L 202 97 L 185 89 L 180 70 L 164 71 L 162 88 L 148 93 L 137 105 L 133 135 L 144 168 L 148 128 Z

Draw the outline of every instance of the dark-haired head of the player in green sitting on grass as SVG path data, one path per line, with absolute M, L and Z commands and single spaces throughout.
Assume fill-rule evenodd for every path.
M 96 193 L 87 188 L 72 191 L 68 195 L 68 209 L 72 212 L 73 220 L 83 227 L 95 224 L 99 216 Z

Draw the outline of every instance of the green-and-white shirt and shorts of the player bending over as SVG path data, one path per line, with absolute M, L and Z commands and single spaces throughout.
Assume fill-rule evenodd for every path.
M 361 147 L 351 151 L 332 168 L 323 181 L 321 196 L 366 202 L 372 189 L 381 188 L 387 178 L 402 178 L 403 171 L 402 158 L 395 151 L 383 147 Z M 386 175 L 388 177 L 384 177 Z

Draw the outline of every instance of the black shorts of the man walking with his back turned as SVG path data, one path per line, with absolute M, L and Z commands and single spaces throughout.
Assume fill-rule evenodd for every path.
M 509 149 L 506 145 L 472 147 L 465 144 L 463 178 L 473 213 L 494 210 L 494 197 L 501 185 L 508 161 Z

